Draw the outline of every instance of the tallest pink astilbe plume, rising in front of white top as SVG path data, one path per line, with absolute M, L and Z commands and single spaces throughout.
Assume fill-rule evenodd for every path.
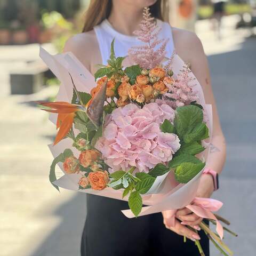
M 132 46 L 128 51 L 129 57 L 141 68 L 155 68 L 164 59 L 169 39 L 158 39 L 157 35 L 160 30 L 161 28 L 156 25 L 155 18 L 151 17 L 149 8 L 145 7 L 140 30 L 134 31 L 134 35 L 137 35 L 138 39 L 146 45 Z M 156 49 L 157 46 L 158 49 Z

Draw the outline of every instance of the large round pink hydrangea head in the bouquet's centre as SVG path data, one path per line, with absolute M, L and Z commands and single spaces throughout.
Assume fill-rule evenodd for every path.
M 110 171 L 148 172 L 158 163 L 166 163 L 180 148 L 173 133 L 161 132 L 164 119 L 174 120 L 174 110 L 165 103 L 151 102 L 143 108 L 130 103 L 108 115 L 102 137 L 95 148 L 111 167 Z

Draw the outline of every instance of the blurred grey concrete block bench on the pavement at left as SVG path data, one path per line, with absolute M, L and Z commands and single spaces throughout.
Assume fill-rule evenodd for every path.
M 48 67 L 42 62 L 30 62 L 26 66 L 10 71 L 11 94 L 31 94 L 44 85 L 44 73 Z

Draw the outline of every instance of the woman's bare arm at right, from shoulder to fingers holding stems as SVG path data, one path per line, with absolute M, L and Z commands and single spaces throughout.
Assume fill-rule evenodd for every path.
M 178 55 L 183 59 L 183 61 L 190 63 L 193 74 L 196 76 L 202 86 L 206 103 L 212 105 L 213 133 L 211 151 L 209 158 L 207 159 L 206 167 L 209 167 L 215 172 L 221 173 L 226 159 L 226 144 L 221 130 L 217 107 L 212 92 L 209 65 L 203 50 L 202 43 L 194 33 L 180 29 L 173 29 L 173 37 Z M 202 175 L 197 190 L 197 196 L 210 197 L 213 193 L 213 190 L 214 186 L 211 175 Z M 173 230 L 175 233 L 185 235 L 189 238 L 195 238 L 196 233 L 192 234 L 191 230 L 185 229 L 186 227 L 183 225 L 189 225 L 194 228 L 198 228 L 198 223 L 202 221 L 202 218 L 199 218 L 196 214 L 191 213 L 191 211 L 186 208 L 180 209 L 176 213 L 176 217 L 182 221 L 182 225 L 178 220 L 175 220 L 175 226 L 170 227 L 168 225 L 168 211 L 163 212 L 163 217 L 164 224 L 167 228 Z

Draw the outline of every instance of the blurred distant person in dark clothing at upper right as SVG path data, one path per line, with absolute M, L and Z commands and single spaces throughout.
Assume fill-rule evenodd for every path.
M 211 0 L 213 4 L 212 27 L 221 39 L 221 19 L 225 15 L 225 3 L 227 0 Z

